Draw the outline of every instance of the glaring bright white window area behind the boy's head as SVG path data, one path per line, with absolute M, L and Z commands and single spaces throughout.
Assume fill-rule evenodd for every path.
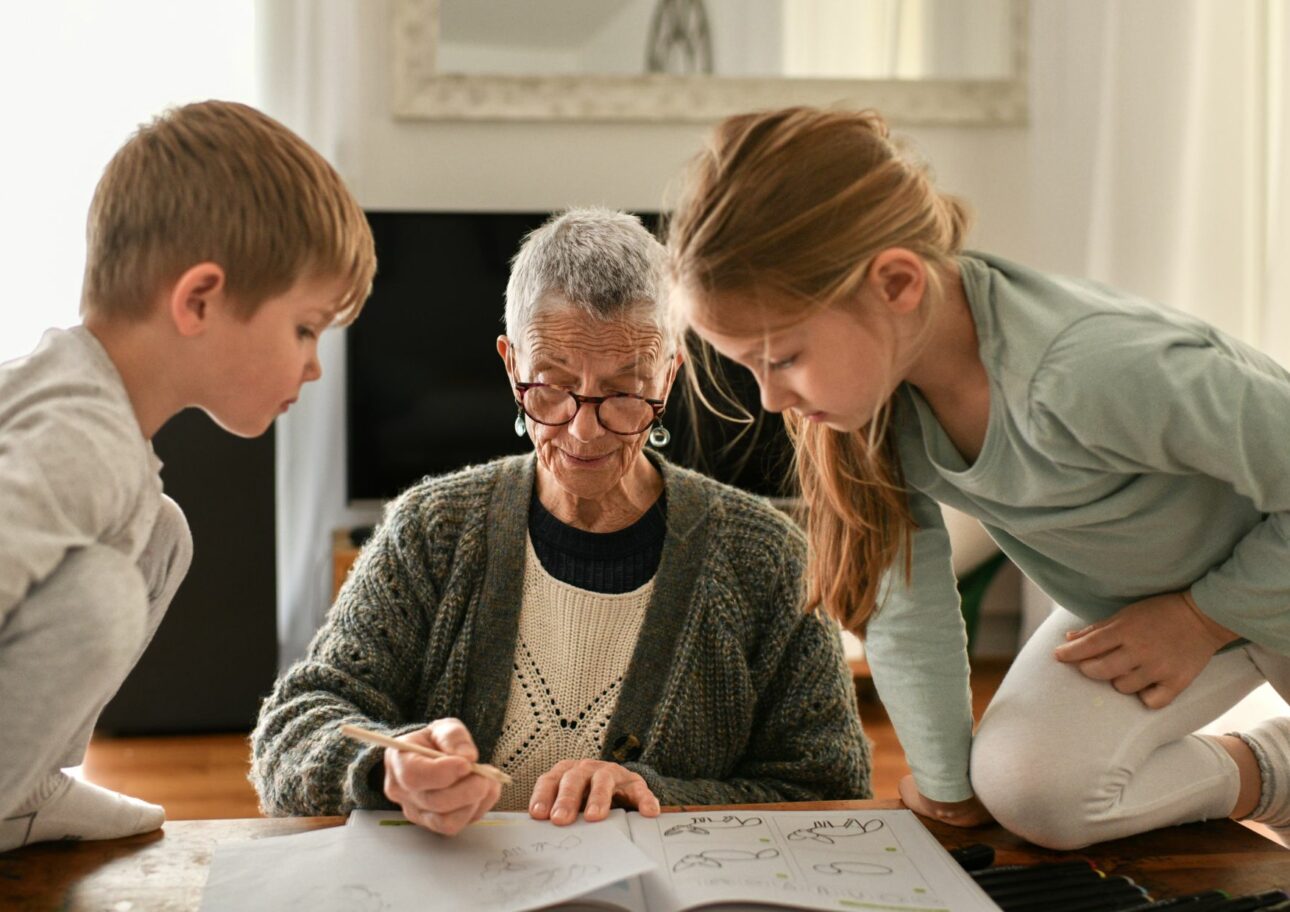
M 0 6 L 0 361 L 79 321 L 85 214 L 130 133 L 173 104 L 258 103 L 253 12 L 205 0 Z

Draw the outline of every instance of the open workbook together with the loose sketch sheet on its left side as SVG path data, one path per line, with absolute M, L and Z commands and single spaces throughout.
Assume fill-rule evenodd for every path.
M 454 838 L 397 813 L 221 846 L 203 912 L 997 907 L 907 810 L 489 814 Z

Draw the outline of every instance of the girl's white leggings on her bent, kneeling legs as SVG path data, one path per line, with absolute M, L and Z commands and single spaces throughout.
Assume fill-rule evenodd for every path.
M 1227 817 L 1236 762 L 1193 734 L 1268 681 L 1290 694 L 1290 658 L 1249 645 L 1210 659 L 1173 703 L 1148 709 L 1053 658 L 1087 622 L 1055 609 L 982 716 L 971 783 L 1004 827 L 1050 849 Z

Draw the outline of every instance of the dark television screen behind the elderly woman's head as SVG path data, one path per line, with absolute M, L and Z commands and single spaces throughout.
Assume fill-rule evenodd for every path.
M 378 271 L 347 333 L 350 501 L 386 501 L 426 475 L 531 449 L 515 436 L 515 401 L 497 337 L 511 258 L 550 213 L 369 212 Z M 657 214 L 642 213 L 657 228 Z M 728 365 L 753 414 L 756 384 Z M 788 444 L 778 415 L 738 441 L 738 427 L 702 408 L 698 423 L 677 379 L 663 453 L 748 490 L 784 491 Z

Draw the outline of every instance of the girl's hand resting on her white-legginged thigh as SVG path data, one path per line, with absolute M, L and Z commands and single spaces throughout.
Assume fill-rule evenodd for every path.
M 1054 651 L 1086 677 L 1138 694 L 1151 709 L 1169 706 L 1236 633 L 1196 608 L 1187 592 L 1125 605 L 1106 620 L 1066 635 Z

